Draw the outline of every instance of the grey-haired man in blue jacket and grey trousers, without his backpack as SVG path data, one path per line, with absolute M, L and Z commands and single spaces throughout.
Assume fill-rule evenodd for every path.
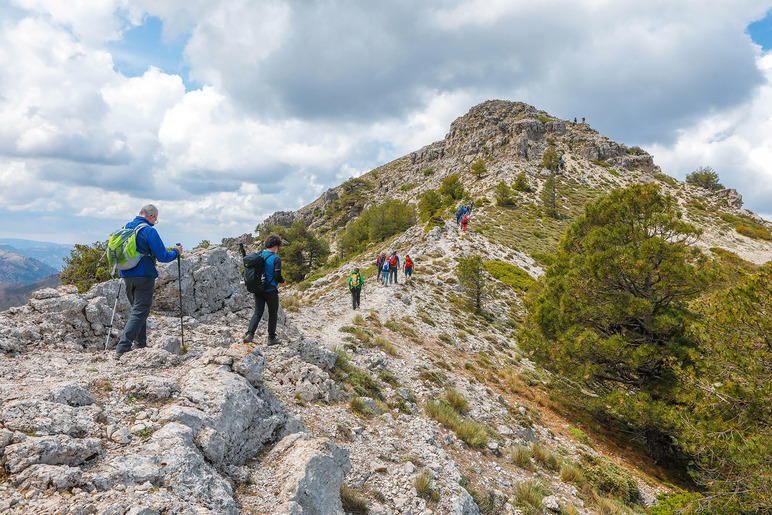
M 137 349 L 147 347 L 147 317 L 150 316 L 155 279 L 158 277 L 156 260 L 169 263 L 182 255 L 182 245 L 175 245 L 173 250 L 166 250 L 166 245 L 155 230 L 154 225 L 157 223 L 158 208 L 148 204 L 140 209 L 134 220 L 126 224 L 128 229 L 135 229 L 140 224 L 145 225 L 137 231 L 137 252 L 144 256 L 134 268 L 120 271 L 120 277 L 126 285 L 126 297 L 131 304 L 131 314 L 115 349 L 115 359 L 118 360 L 131 350 L 132 343 Z

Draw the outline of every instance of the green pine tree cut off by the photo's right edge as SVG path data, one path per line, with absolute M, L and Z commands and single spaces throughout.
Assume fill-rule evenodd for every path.
M 690 326 L 701 360 L 683 374 L 693 407 L 681 438 L 715 513 L 763 513 L 772 505 L 772 265 L 719 291 Z

